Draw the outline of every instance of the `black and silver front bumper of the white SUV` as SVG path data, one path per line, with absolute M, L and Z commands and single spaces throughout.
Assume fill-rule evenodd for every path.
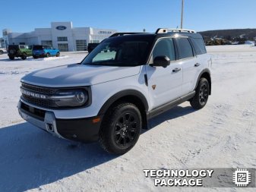
M 36 109 L 21 100 L 17 108 L 24 120 L 57 137 L 81 142 L 93 142 L 99 138 L 102 116 L 59 119 L 55 118 L 54 112 Z

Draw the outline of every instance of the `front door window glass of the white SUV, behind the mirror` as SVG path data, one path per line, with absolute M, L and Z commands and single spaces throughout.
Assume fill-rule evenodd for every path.
M 157 56 L 167 56 L 171 61 L 175 60 L 175 49 L 172 38 L 164 38 L 156 42 L 156 46 L 153 49 L 153 58 Z

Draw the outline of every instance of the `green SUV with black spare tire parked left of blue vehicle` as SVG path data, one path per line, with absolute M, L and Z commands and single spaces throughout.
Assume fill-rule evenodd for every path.
M 25 60 L 27 57 L 32 56 L 32 46 L 10 45 L 8 46 L 8 56 L 11 60 L 14 60 L 14 58 Z

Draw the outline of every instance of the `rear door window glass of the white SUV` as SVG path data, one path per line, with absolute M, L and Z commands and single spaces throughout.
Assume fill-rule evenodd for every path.
M 191 58 L 194 56 L 193 49 L 191 47 L 188 38 L 177 38 L 178 50 L 179 50 L 179 59 L 182 58 Z

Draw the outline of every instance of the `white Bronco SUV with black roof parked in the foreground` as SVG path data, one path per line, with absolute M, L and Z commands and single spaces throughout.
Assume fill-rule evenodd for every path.
M 193 30 L 115 33 L 80 64 L 34 71 L 21 79 L 21 117 L 58 137 L 99 140 L 122 154 L 148 119 L 189 101 L 206 105 L 211 59 Z

